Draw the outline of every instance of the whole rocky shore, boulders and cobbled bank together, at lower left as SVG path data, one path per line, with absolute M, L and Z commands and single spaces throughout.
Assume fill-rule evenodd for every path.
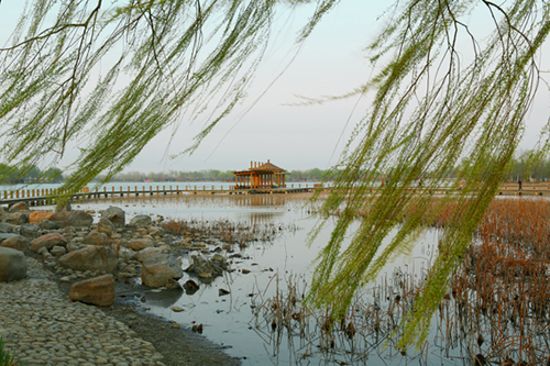
M 25 366 L 240 364 L 239 359 L 226 355 L 222 347 L 190 330 L 139 313 L 125 301 L 124 292 L 147 290 L 130 281 L 140 275 L 143 279 L 146 260 L 161 256 L 174 259 L 167 254 L 172 251 L 170 237 L 165 237 L 151 219 L 141 218 L 144 223 L 125 225 L 122 218 L 117 225 L 117 220 L 102 214 L 100 223 L 92 224 L 91 217 L 84 211 L 64 211 L 57 215 L 62 220 L 55 220 L 56 213 L 50 213 L 47 218 L 42 217 L 41 222 L 33 222 L 28 208 L 10 211 L 1 212 L 0 225 L 0 249 L 3 251 L 0 253 L 0 335 L 6 351 L 15 352 L 18 365 L 20 362 Z M 121 219 L 120 212 L 117 219 Z M 44 235 L 54 237 L 55 243 L 37 244 Z M 113 251 L 114 265 L 84 270 L 67 262 L 68 255 L 75 256 L 74 253 L 84 249 L 103 251 L 103 254 Z M 13 268 L 2 267 L 2 255 L 11 251 L 26 254 L 25 275 L 19 279 L 8 275 L 9 281 L 3 281 L 6 271 Z M 166 267 L 169 265 L 163 268 Z M 154 276 L 158 280 L 160 277 Z M 155 286 L 177 287 L 177 276 L 161 276 L 162 284 Z M 99 277 L 112 278 L 112 302 L 102 307 L 95 303 L 98 295 L 105 301 L 105 289 L 75 301 L 75 285 Z M 88 301 L 90 298 L 92 301 Z

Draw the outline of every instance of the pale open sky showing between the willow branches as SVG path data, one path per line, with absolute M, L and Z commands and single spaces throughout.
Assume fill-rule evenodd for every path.
M 204 121 L 182 121 L 174 135 L 172 130 L 164 131 L 153 138 L 125 171 L 241 170 L 250 167 L 251 160 L 267 159 L 287 170 L 329 168 L 338 162 L 350 132 L 369 107 L 369 100 L 352 98 L 297 106 L 301 100 L 298 96 L 339 96 L 373 75 L 373 67 L 363 49 L 383 26 L 378 15 L 388 3 L 341 1 L 322 20 L 294 59 L 294 41 L 312 8 L 301 5 L 294 13 L 280 12 L 275 24 L 282 25 L 282 31 L 273 34 L 264 63 L 248 90 L 249 98 L 244 103 L 223 120 L 191 156 L 167 157 L 188 147 Z M 11 33 L 13 20 L 23 5 L 21 0 L 1 1 L 0 34 Z M 544 54 L 548 55 L 548 52 Z M 528 117 L 521 148 L 535 145 L 540 125 L 550 115 L 549 106 L 548 92 L 542 92 Z M 74 153 L 69 151 L 61 164 L 69 164 L 76 153 L 76 148 Z

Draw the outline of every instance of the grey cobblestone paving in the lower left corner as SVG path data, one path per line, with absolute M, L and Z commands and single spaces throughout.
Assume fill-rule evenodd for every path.
M 73 302 L 26 260 L 26 278 L 0 284 L 0 335 L 15 365 L 164 365 L 153 344 L 100 308 Z

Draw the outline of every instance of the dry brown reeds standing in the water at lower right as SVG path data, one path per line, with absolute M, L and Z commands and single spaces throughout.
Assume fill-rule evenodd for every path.
M 449 204 L 435 225 L 442 228 L 454 210 Z M 251 326 L 272 345 L 287 340 L 294 362 L 312 355 L 338 364 L 365 364 L 374 356 L 420 364 L 550 365 L 550 202 L 498 199 L 472 237 L 463 264 L 431 320 L 426 344 L 416 353 L 396 347 L 403 320 L 413 308 L 428 270 L 396 269 L 359 293 L 345 317 L 329 307 L 302 303 L 304 276 L 278 278 L 274 296 L 256 288 Z

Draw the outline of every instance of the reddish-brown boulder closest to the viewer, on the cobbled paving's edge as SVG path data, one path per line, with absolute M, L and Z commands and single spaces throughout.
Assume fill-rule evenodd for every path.
M 110 307 L 114 303 L 114 279 L 112 275 L 90 278 L 70 286 L 70 300 Z

